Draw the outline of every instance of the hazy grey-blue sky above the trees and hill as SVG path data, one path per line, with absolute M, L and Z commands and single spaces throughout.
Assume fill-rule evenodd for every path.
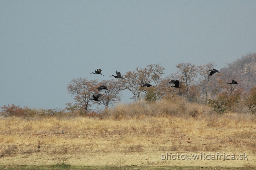
M 156 63 L 164 76 L 182 62 L 220 69 L 249 52 L 255 0 L 0 0 L 0 106 L 64 108 L 73 78 Z

